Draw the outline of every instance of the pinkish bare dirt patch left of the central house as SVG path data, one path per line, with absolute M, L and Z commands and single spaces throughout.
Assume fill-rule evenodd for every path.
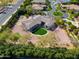
M 12 32 L 13 33 L 19 33 L 21 35 L 29 34 L 29 32 L 24 31 L 23 26 L 22 26 L 22 22 L 25 21 L 25 20 L 27 20 L 27 18 L 25 16 L 21 16 L 19 18 L 19 21 L 13 27 Z

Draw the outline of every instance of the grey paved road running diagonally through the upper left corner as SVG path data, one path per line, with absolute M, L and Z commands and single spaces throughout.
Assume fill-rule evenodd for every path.
M 23 2 L 24 0 L 18 0 L 17 3 L 13 5 L 11 8 L 5 8 L 5 13 L 0 14 L 0 26 L 7 23 L 12 14 L 14 14 L 17 11 L 17 9 Z

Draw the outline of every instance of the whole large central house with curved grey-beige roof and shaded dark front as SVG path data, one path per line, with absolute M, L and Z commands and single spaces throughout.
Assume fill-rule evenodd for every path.
M 33 31 L 37 27 L 54 30 L 54 18 L 49 16 L 34 15 L 29 20 L 22 22 L 25 31 Z

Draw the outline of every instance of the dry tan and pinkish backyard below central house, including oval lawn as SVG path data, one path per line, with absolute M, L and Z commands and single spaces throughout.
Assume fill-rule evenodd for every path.
M 60 31 L 62 35 L 60 35 L 60 32 L 58 30 L 54 32 L 42 27 L 37 27 L 36 29 L 34 29 L 34 32 L 25 31 L 22 26 L 22 21 L 25 21 L 27 19 L 28 19 L 27 17 L 21 16 L 19 18 L 19 21 L 16 23 L 16 25 L 12 29 L 13 33 L 19 33 L 22 36 L 25 36 L 22 39 L 18 40 L 19 44 L 28 44 L 30 42 L 35 47 L 52 47 L 52 48 L 53 47 L 67 47 L 67 48 L 73 47 L 72 43 L 70 42 L 69 37 L 66 35 L 66 33 L 63 34 L 63 31 L 61 29 Z M 64 40 L 63 35 L 67 36 L 68 38 L 65 38 Z M 67 39 L 69 42 L 66 41 Z

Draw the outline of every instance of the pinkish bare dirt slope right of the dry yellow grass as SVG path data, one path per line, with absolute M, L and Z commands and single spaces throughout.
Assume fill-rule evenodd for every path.
M 67 32 L 64 29 L 58 27 L 54 32 L 60 47 L 73 48 L 70 37 L 67 35 Z

